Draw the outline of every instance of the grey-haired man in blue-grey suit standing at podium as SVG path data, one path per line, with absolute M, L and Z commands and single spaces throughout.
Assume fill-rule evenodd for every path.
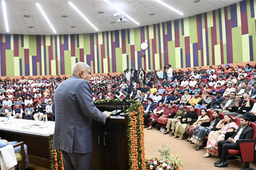
M 60 83 L 54 93 L 55 129 L 53 148 L 61 149 L 64 169 L 89 170 L 92 159 L 92 119 L 105 123 L 109 112 L 93 104 L 90 66 L 78 62 L 72 77 Z

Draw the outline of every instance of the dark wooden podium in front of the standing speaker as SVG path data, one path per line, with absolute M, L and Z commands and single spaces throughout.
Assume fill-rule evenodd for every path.
M 114 102 L 95 104 L 100 111 L 113 111 Z M 117 102 L 118 109 L 123 103 Z M 127 107 L 125 108 L 127 109 Z M 127 120 L 120 115 L 107 118 L 105 124 L 92 120 L 92 167 L 91 169 L 128 170 Z

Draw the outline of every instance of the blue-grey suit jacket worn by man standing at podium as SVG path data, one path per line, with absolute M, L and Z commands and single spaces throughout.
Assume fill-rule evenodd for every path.
M 90 84 L 72 76 L 54 93 L 55 129 L 53 148 L 68 153 L 92 151 L 92 119 L 105 123 L 106 115 L 93 104 Z

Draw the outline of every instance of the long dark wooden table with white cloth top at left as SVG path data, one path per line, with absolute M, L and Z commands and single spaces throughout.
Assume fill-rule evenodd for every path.
M 0 117 L 0 137 L 8 141 L 24 141 L 28 146 L 30 158 L 33 156 L 30 163 L 50 168 L 49 135 L 54 134 L 55 122 L 48 121 L 47 128 L 34 126 L 25 129 L 23 127 L 33 124 L 43 125 L 43 121 L 13 118 L 10 124 L 5 124 L 3 120 L 5 121 L 7 118 Z M 43 165 L 41 160 L 44 160 Z

